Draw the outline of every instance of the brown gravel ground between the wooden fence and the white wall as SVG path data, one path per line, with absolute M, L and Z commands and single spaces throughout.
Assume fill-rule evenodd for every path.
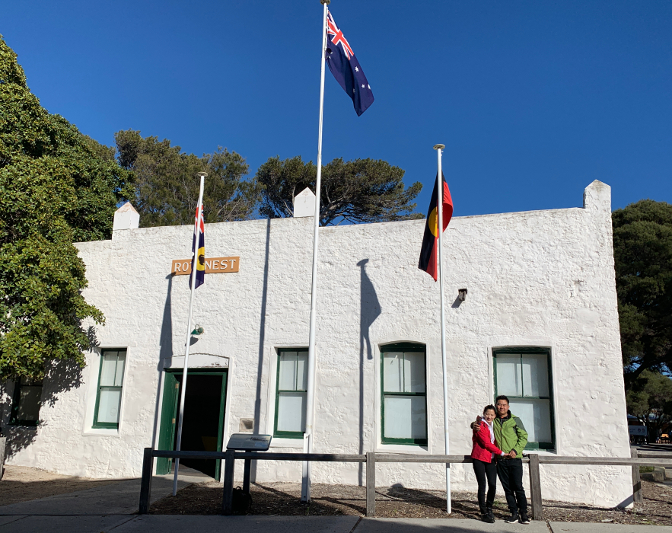
M 299 483 L 253 484 L 250 488 L 252 515 L 355 515 L 366 511 L 364 487 L 351 485 L 313 485 L 312 501 L 302 504 Z M 644 502 L 632 510 L 600 509 L 579 504 L 544 501 L 544 519 L 563 522 L 605 522 L 614 524 L 672 525 L 672 486 L 642 481 Z M 218 514 L 222 505 L 222 486 L 217 482 L 199 483 L 154 503 L 151 514 Z M 403 487 L 376 490 L 376 516 L 381 518 L 447 518 L 445 493 Z M 476 495 L 453 493 L 450 518 L 478 519 Z M 506 502 L 495 501 L 495 517 L 508 516 Z

